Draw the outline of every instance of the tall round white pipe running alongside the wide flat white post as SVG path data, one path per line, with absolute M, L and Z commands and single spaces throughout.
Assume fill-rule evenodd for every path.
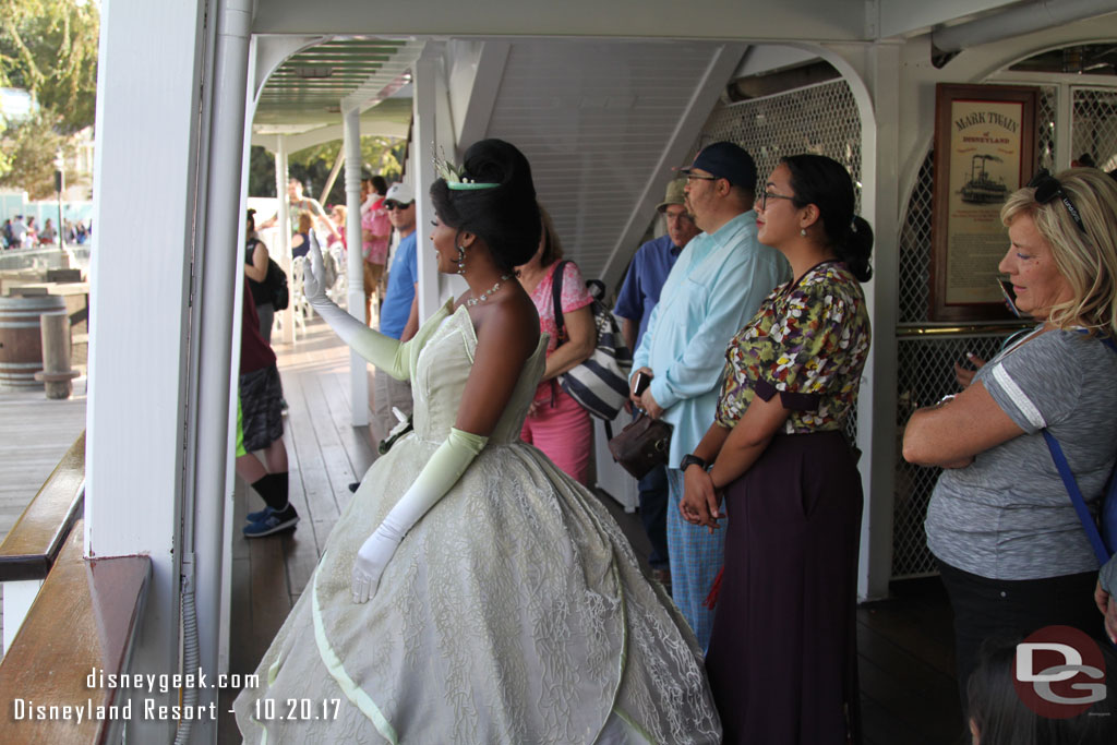
M 197 313 L 193 336 L 198 346 L 191 378 L 198 381 L 197 403 L 191 407 L 188 432 L 193 447 L 188 449 L 187 519 L 184 532 L 184 600 L 194 599 L 197 639 L 184 633 L 184 649 L 197 644 L 197 665 L 214 678 L 220 674 L 221 580 L 225 552 L 225 495 L 231 493 L 232 451 L 229 437 L 230 412 L 236 399 L 230 395 L 235 370 L 240 360 L 240 319 L 245 288 L 242 230 L 245 213 L 242 165 L 245 163 L 245 102 L 248 88 L 248 37 L 252 0 L 218 0 L 217 38 L 213 45 L 213 85 L 209 127 L 209 168 L 199 200 L 204 216 L 202 260 L 195 261 Z M 200 266 L 199 266 L 200 265 Z M 200 268 L 200 271 L 198 269 Z M 199 278 L 200 277 L 200 281 Z M 189 562 L 189 563 L 188 563 Z M 190 571 L 190 570 L 193 571 Z M 189 629 L 190 602 L 183 603 Z M 183 667 L 192 668 L 192 659 Z M 187 669 L 184 672 L 193 672 Z M 216 687 L 183 691 L 197 696 L 197 706 L 212 707 L 218 701 Z M 190 726 L 192 743 L 217 739 L 217 722 L 199 717 Z

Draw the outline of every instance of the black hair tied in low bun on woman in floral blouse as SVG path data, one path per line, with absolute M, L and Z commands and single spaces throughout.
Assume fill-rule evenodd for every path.
M 858 281 L 872 278 L 872 228 L 853 214 L 853 180 L 838 161 L 825 155 L 804 153 L 780 159 L 791 171 L 792 203 L 802 209 L 819 208 L 819 220 L 827 245 Z

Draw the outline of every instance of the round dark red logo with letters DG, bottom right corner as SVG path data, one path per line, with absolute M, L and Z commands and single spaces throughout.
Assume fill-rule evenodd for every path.
M 1049 625 L 1016 644 L 1012 682 L 1029 709 L 1050 719 L 1079 716 L 1106 698 L 1106 662 L 1085 632 Z

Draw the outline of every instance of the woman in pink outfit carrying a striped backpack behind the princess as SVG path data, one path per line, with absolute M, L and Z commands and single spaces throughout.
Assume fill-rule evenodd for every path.
M 535 398 L 524 419 L 519 436 L 542 450 L 558 468 L 585 485 L 593 450 L 593 424 L 590 413 L 558 385 L 556 378 L 585 362 L 598 343 L 590 304 L 593 297 L 577 265 L 566 261 L 562 275 L 563 331 L 558 332 L 555 313 L 555 269 L 562 259 L 562 242 L 554 222 L 543 207 L 543 235 L 540 247 L 527 264 L 516 267 L 524 292 L 535 304 L 540 329 L 548 335 L 547 364 Z

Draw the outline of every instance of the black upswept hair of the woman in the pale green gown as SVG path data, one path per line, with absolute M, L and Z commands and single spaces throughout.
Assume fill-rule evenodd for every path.
M 458 233 L 484 240 L 503 271 L 529 261 L 540 247 L 541 223 L 532 166 L 524 154 L 503 140 L 481 140 L 466 151 L 460 175 L 499 185 L 454 190 L 439 179 L 430 188 L 439 219 Z

